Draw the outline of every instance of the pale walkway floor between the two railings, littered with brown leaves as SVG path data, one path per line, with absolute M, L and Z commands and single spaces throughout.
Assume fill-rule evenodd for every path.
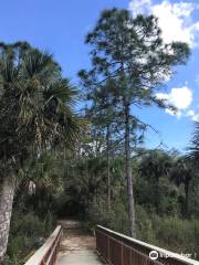
M 60 222 L 64 229 L 61 240 L 57 265 L 100 265 L 103 264 L 95 252 L 95 239 L 85 234 L 80 223 Z

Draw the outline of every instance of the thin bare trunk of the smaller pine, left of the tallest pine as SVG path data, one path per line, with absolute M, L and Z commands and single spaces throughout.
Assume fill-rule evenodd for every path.
M 106 131 L 106 158 L 107 158 L 107 203 L 108 203 L 108 210 L 111 209 L 111 153 L 109 153 L 109 126 L 107 126 Z

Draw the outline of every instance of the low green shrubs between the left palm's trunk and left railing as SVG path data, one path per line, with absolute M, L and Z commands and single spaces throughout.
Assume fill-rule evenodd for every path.
M 7 252 L 8 264 L 24 264 L 27 257 L 52 233 L 54 225 L 55 220 L 51 213 L 41 220 L 34 212 L 24 214 L 19 212 L 19 209 L 14 211 Z

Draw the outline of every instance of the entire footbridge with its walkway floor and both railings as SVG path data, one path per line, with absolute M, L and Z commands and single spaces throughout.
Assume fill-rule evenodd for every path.
M 62 234 L 62 232 L 64 233 Z M 95 248 L 104 257 L 104 261 L 108 262 L 107 264 L 113 265 L 199 265 L 197 261 L 119 234 L 101 225 L 95 227 L 95 234 L 96 246 L 95 239 L 84 233 L 78 222 L 62 221 L 45 243 L 27 261 L 25 265 L 104 264 Z M 151 256 L 151 253 L 156 255 Z

